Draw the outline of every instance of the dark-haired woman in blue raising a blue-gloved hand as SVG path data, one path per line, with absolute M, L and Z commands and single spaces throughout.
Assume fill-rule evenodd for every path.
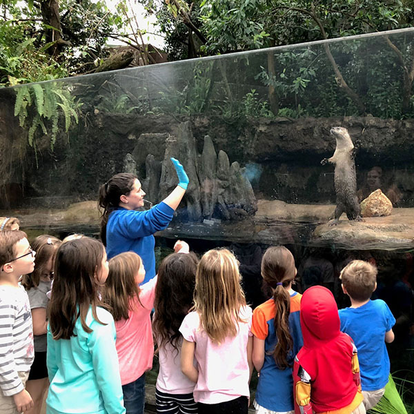
M 136 210 L 144 206 L 145 193 L 139 179 L 133 174 L 116 174 L 99 188 L 98 204 L 103 209 L 101 239 L 106 246 L 108 259 L 123 252 L 137 253 L 146 270 L 143 284 L 155 276 L 153 234 L 168 226 L 188 186 L 183 166 L 175 158 L 171 158 L 171 161 L 179 183 L 166 199 L 150 210 Z

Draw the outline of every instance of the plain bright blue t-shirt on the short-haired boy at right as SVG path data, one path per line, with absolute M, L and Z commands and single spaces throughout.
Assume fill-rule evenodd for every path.
M 390 373 L 385 333 L 395 324 L 387 304 L 381 299 L 370 300 L 359 308 L 341 309 L 339 317 L 341 331 L 347 333 L 357 346 L 362 390 L 383 388 Z

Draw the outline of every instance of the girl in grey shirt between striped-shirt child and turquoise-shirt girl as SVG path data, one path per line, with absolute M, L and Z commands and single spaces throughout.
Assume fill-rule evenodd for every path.
M 39 414 L 43 395 L 49 386 L 48 368 L 46 367 L 46 327 L 48 325 L 46 310 L 49 299 L 55 252 L 61 241 L 50 235 L 41 235 L 34 239 L 32 247 L 36 250 L 35 267 L 32 273 L 24 275 L 21 284 L 28 293 L 32 311 L 34 335 L 34 362 L 30 368 L 26 390 L 33 399 L 34 407 L 29 414 Z

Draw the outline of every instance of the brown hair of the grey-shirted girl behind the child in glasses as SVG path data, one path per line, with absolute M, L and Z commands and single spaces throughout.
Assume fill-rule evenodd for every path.
M 46 265 L 50 257 L 54 257 L 61 241 L 50 235 L 41 235 L 36 237 L 32 243 L 32 249 L 36 252 L 34 258 L 34 270 L 28 275 L 23 275 L 21 284 L 26 290 L 37 288 L 39 286 L 40 277 L 44 274 Z

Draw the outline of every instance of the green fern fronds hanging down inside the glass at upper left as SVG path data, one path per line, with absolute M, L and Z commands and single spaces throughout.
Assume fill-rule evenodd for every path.
M 81 103 L 75 101 L 61 83 L 34 83 L 16 90 L 14 116 L 19 117 L 21 128 L 28 129 L 28 144 L 34 146 L 34 139 L 40 132 L 50 139 L 53 150 L 59 130 L 59 120 L 64 119 L 68 132 L 72 122 L 78 123 Z

